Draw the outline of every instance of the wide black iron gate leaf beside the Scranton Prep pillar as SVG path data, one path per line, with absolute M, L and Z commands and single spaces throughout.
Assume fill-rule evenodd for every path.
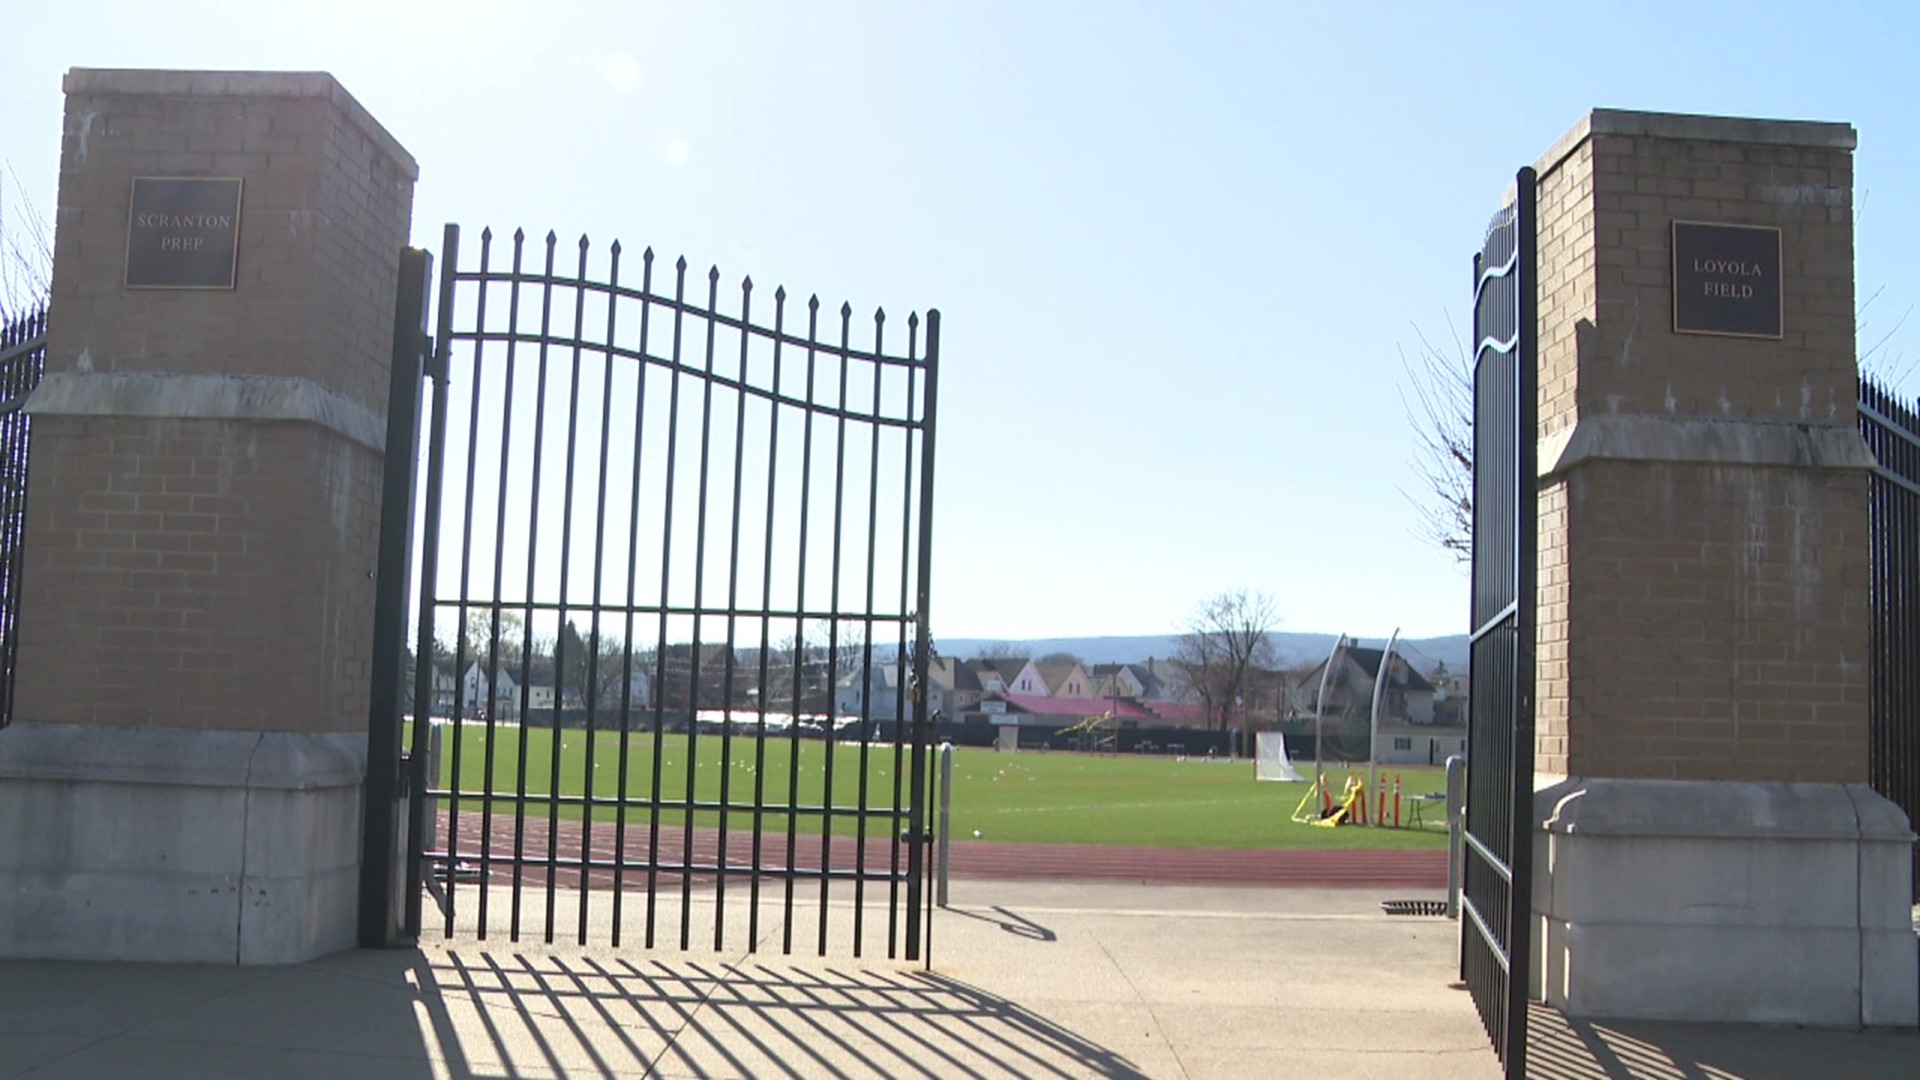
M 399 778 L 438 915 L 407 888 L 399 936 L 920 959 L 939 313 L 459 240 Z

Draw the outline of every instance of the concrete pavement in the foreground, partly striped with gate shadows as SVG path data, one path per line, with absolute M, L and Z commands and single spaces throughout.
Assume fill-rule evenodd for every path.
M 0 963 L 0 1078 L 1500 1076 L 1453 922 L 1379 899 L 956 880 L 931 969 L 781 957 L 778 926 L 756 953 L 495 928 L 292 969 Z M 1534 1026 L 1546 1080 L 1920 1076 L 1912 1034 Z

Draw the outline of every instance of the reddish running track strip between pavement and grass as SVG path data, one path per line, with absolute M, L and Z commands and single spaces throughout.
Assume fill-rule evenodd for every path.
M 447 815 L 440 815 L 445 836 Z M 879 824 L 879 822 L 876 822 Z M 528 859 L 545 861 L 549 821 L 528 817 L 524 822 L 522 849 Z M 515 822 L 511 815 L 497 815 L 492 821 L 492 851 L 495 855 L 513 851 Z M 616 830 L 612 824 L 595 824 L 589 859 L 612 859 L 616 853 Z M 480 863 L 482 821 L 478 813 L 463 811 L 459 817 L 459 844 L 453 855 L 468 865 Z M 586 840 L 582 822 L 553 822 L 555 849 L 559 861 L 574 861 L 574 867 L 557 867 L 555 882 L 578 886 L 582 842 Z M 626 826 L 628 863 L 647 859 L 651 836 L 647 826 Z M 753 865 L 753 834 L 745 830 L 728 832 L 728 865 L 745 871 Z M 680 865 L 685 853 L 685 832 L 678 826 L 660 826 L 659 861 Z M 697 828 L 693 832 L 691 865 L 714 865 L 720 857 L 720 832 Z M 818 869 L 828 861 L 833 869 L 854 869 L 856 842 L 852 826 L 822 844 L 820 836 L 795 838 L 793 865 Z M 868 872 L 885 872 L 893 865 L 895 846 L 885 838 L 868 838 Z M 904 869 L 904 851 L 900 865 Z M 760 865 L 780 869 L 787 865 L 787 836 L 768 832 L 760 838 Z M 495 882 L 511 880 L 513 869 L 490 867 Z M 543 865 L 524 865 L 520 869 L 524 884 L 543 884 Z M 1265 849 L 1173 849 L 1173 847 L 1104 847 L 1073 844 L 991 844 L 979 840 L 956 840 L 952 846 L 952 876 L 956 878 L 1012 878 L 1012 880 L 1106 880 L 1137 884 L 1200 884 L 1200 886 L 1286 886 L 1286 888 L 1446 888 L 1446 851 L 1265 851 Z M 624 882 L 645 880 L 645 871 L 628 869 Z M 680 882 L 676 872 L 660 872 L 660 882 Z M 695 882 L 710 882 L 712 874 L 695 874 Z M 595 886 L 612 886 L 611 869 L 589 871 Z

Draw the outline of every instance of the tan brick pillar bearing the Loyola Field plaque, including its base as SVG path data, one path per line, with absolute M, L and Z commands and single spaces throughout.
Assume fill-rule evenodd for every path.
M 1912 834 L 1866 788 L 1853 146 L 1601 110 L 1538 165 L 1534 980 L 1576 1015 L 1914 1022 L 1876 876 Z

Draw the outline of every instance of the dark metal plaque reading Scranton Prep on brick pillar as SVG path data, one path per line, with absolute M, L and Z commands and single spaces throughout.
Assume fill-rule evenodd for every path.
M 134 177 L 127 288 L 232 288 L 238 177 Z

